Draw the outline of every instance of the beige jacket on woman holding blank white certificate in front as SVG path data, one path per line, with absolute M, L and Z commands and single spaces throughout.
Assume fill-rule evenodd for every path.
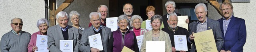
M 152 41 L 152 32 L 153 30 L 150 30 L 144 35 L 140 52 L 146 52 L 146 41 Z M 168 33 L 160 29 L 159 40 L 165 41 L 165 52 L 172 52 L 172 44 Z

